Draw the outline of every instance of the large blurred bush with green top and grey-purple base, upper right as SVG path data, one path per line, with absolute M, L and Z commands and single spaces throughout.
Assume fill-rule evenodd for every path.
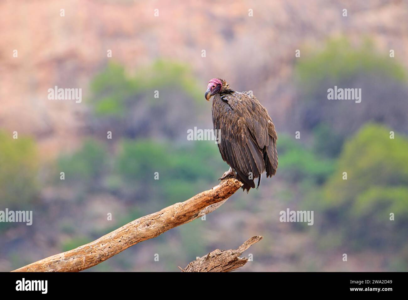
M 404 65 L 366 40 L 328 40 L 322 50 L 305 50 L 295 65 L 297 103 L 290 111 L 293 129 L 314 136 L 314 149 L 337 157 L 344 140 L 367 122 L 408 133 L 408 87 Z M 359 88 L 361 103 L 328 100 L 329 88 Z

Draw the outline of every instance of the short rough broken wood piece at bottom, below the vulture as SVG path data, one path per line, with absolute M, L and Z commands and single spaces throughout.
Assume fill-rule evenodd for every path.
M 262 240 L 263 236 L 253 236 L 237 249 L 216 249 L 207 255 L 190 262 L 182 272 L 229 272 L 242 267 L 248 258 L 239 256 L 256 242 Z

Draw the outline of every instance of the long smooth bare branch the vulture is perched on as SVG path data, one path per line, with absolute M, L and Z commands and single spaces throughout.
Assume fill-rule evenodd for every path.
M 242 183 L 236 179 L 226 179 L 211 190 L 134 220 L 98 240 L 33 262 L 14 271 L 76 272 L 88 269 L 134 244 L 155 238 L 169 229 L 211 213 L 241 186 Z

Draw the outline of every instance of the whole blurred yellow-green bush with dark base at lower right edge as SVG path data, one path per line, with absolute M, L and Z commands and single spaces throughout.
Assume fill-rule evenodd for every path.
M 346 142 L 336 171 L 312 200 L 323 213 L 322 230 L 340 232 L 357 249 L 401 246 L 408 235 L 408 139 L 389 136 L 387 127 L 363 127 Z

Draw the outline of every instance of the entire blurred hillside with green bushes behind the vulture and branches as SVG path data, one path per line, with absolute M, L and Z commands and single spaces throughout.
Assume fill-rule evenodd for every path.
M 254 235 L 239 271 L 406 271 L 407 20 L 404 0 L 0 1 L 0 210 L 33 211 L 0 223 L 0 271 L 215 186 L 217 145 L 187 140 L 213 128 L 214 77 L 268 109 L 277 175 L 87 271 L 178 271 Z M 335 85 L 361 103 L 328 100 Z M 54 86 L 82 102 L 49 100 Z M 286 208 L 313 226 L 279 222 Z

